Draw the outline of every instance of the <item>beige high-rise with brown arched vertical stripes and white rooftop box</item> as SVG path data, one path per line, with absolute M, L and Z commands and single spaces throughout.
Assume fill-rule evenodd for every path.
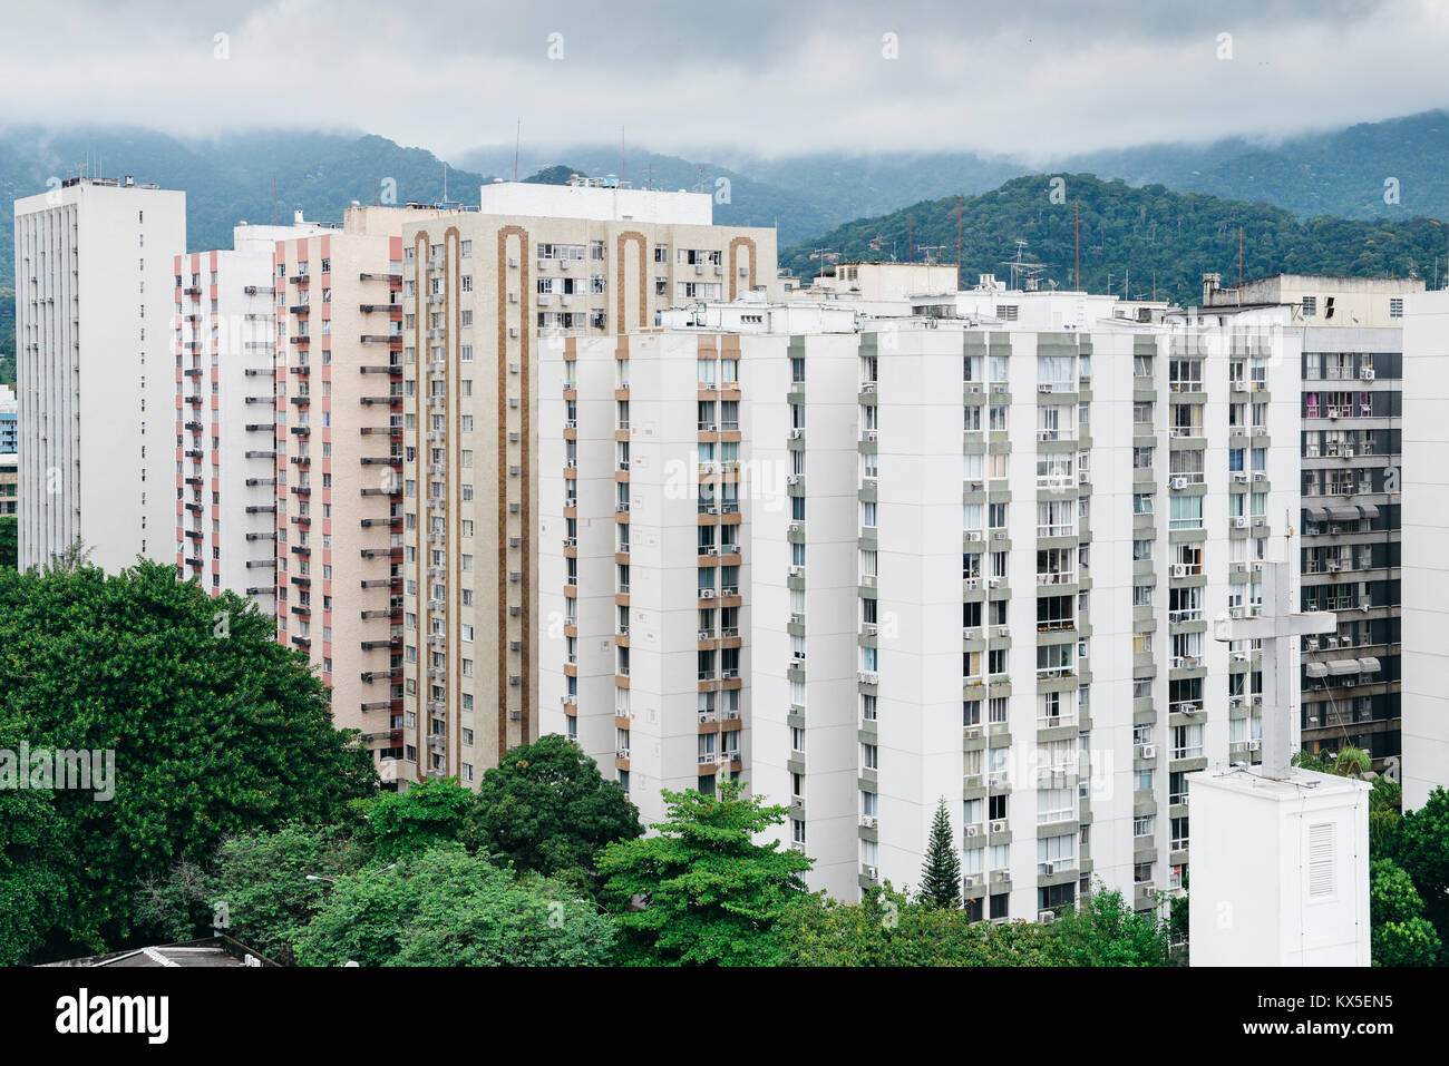
M 616 507 L 580 510 L 567 421 L 549 427 L 565 452 L 575 440 L 555 471 L 565 490 L 539 498 L 539 397 L 575 401 L 567 377 L 540 377 L 543 353 L 778 287 L 774 230 L 711 224 L 706 194 L 496 182 L 480 200 L 403 233 L 400 782 L 472 784 L 539 736 L 540 660 L 569 669 L 572 639 L 562 613 L 539 614 L 540 516 L 626 517 L 626 469 Z M 617 403 L 627 390 L 623 377 Z

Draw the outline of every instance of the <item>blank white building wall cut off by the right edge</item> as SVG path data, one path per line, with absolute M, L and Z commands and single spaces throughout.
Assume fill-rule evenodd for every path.
M 1449 291 L 1404 314 L 1404 810 L 1449 788 Z

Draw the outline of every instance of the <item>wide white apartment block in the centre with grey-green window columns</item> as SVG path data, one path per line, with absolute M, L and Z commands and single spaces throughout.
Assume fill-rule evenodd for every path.
M 916 884 L 945 800 L 972 912 L 1149 908 L 1187 775 L 1258 759 L 1256 652 L 1207 630 L 1288 550 L 1300 336 L 949 271 L 545 355 L 543 729 L 646 814 L 742 773 L 836 897 Z

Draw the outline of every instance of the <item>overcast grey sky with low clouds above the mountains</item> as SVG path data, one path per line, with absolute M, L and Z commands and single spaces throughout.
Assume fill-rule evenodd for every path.
M 1046 159 L 1446 106 L 1446 55 L 1442 0 L 46 0 L 0 13 L 0 122 Z

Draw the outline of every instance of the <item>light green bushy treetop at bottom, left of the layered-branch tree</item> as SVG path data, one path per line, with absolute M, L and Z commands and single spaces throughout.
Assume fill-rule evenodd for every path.
M 342 876 L 297 943 L 304 966 L 591 966 L 614 927 L 593 904 L 461 844 Z

